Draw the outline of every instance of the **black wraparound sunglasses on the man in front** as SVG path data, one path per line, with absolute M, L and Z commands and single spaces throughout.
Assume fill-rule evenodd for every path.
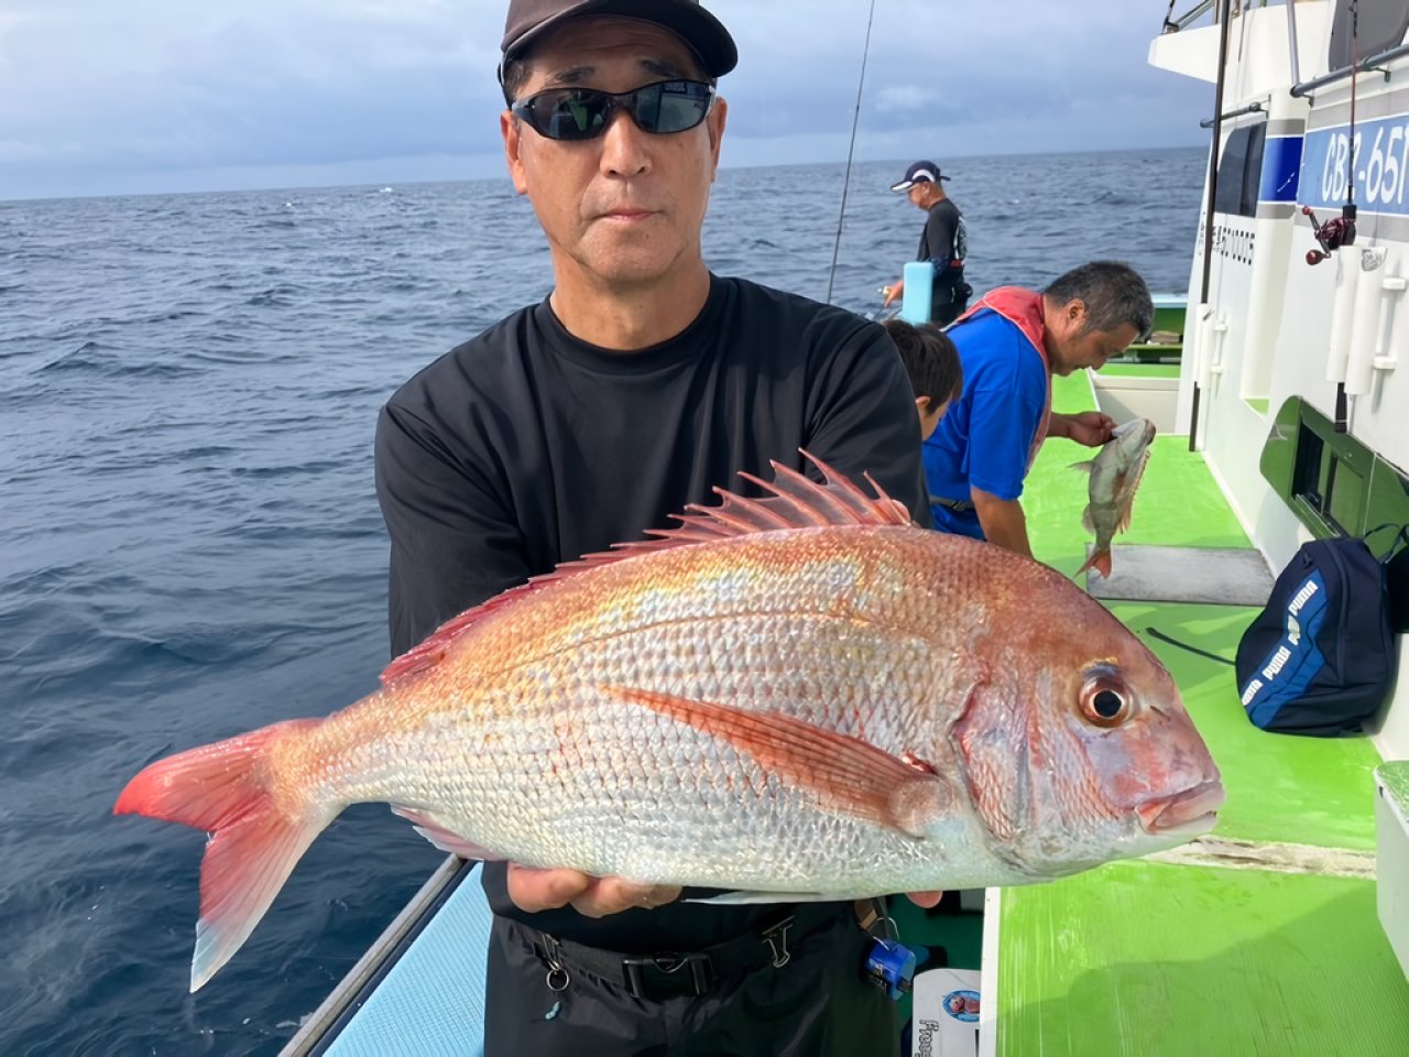
M 561 87 L 520 99 L 509 110 L 550 140 L 595 140 L 626 110 L 643 132 L 683 132 L 714 107 L 714 86 L 702 80 L 658 80 L 631 92 Z

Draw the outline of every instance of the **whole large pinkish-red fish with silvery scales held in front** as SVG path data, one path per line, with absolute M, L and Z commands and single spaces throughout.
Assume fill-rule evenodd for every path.
M 1105 609 L 778 472 L 448 622 L 342 712 L 134 778 L 116 810 L 214 833 L 193 988 L 362 801 L 468 857 L 737 901 L 1026 884 L 1212 824 L 1217 769 Z

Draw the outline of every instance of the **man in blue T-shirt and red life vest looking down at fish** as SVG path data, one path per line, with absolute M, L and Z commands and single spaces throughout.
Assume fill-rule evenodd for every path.
M 1150 328 L 1154 303 L 1127 265 L 1093 261 L 1047 289 L 991 290 L 947 331 L 964 392 L 924 443 L 934 524 L 1031 557 L 1020 496 L 1047 437 L 1098 448 L 1116 423 L 1051 407 L 1051 376 L 1099 371 Z

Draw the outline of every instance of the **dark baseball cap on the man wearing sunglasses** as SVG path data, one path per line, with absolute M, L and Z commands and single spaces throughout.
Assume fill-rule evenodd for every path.
M 695 49 L 710 78 L 721 78 L 738 65 L 734 38 L 699 0 L 509 0 L 504 39 L 499 45 L 504 62 L 521 58 L 559 23 L 586 14 L 617 14 L 664 25 Z

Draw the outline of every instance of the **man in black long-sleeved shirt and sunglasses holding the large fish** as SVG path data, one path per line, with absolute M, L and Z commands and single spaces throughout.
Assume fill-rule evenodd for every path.
M 724 27 L 693 0 L 513 0 L 503 49 L 509 171 L 555 286 L 382 410 L 393 653 L 717 502 L 740 471 L 814 472 L 799 447 L 869 471 L 929 526 L 914 397 L 886 333 L 703 262 L 727 114 L 713 85 L 737 58 Z M 490 1057 L 812 1057 L 898 1037 L 895 1005 L 862 978 L 851 903 L 709 906 L 516 864 L 489 864 L 485 888 Z

